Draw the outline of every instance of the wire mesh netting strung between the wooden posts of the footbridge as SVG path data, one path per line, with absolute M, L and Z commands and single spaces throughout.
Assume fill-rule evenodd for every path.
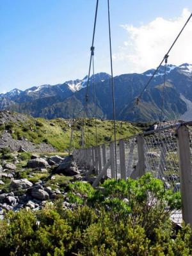
M 189 126 L 191 122 L 185 123 L 188 125 L 189 129 L 189 137 L 190 137 L 190 148 L 191 148 L 191 156 L 192 156 L 192 129 Z M 141 134 L 143 136 L 143 172 L 151 172 L 154 177 L 163 180 L 166 188 L 172 188 L 175 191 L 178 191 L 180 188 L 180 177 L 179 177 L 179 154 L 178 154 L 178 141 L 177 141 L 177 128 L 179 124 L 170 125 L 168 127 L 163 127 L 156 131 L 144 132 Z M 139 159 L 138 154 L 138 135 L 131 136 L 130 138 L 126 138 L 122 140 L 124 142 L 124 150 L 120 149 L 120 140 L 116 141 L 116 159 L 114 156 L 114 152 L 111 152 L 111 143 L 105 143 L 104 145 L 99 145 L 98 147 L 92 147 L 90 150 L 86 149 L 86 154 L 84 154 L 84 164 L 86 164 L 86 158 L 91 159 L 89 165 L 95 166 L 98 173 L 101 172 L 102 168 L 105 166 L 106 162 L 113 159 L 116 160 L 116 177 L 122 177 L 122 163 L 121 163 L 121 155 L 124 154 L 124 168 L 125 168 L 125 176 L 126 179 L 129 177 L 139 176 L 138 166 L 141 165 L 141 161 Z M 93 150 L 93 152 L 91 152 Z M 77 150 L 78 151 L 78 150 Z M 81 154 L 83 149 L 80 150 Z M 88 155 L 90 157 L 88 157 Z M 100 154 L 100 157 L 98 156 Z M 94 156 L 93 156 L 94 155 Z M 104 160 L 105 155 L 105 160 Z M 80 157 L 82 158 L 82 157 Z M 99 159 L 100 158 L 100 159 Z M 99 163 L 98 163 L 99 162 Z M 90 167 L 88 166 L 88 167 Z M 140 166 L 141 167 L 141 166 Z M 101 168 L 101 170 L 99 170 Z M 113 175 L 114 166 L 109 165 L 107 174 L 109 178 L 115 178 Z M 141 169 L 141 168 L 140 168 Z M 139 171 L 138 171 L 139 172 Z M 136 173 L 136 176 L 133 175 Z

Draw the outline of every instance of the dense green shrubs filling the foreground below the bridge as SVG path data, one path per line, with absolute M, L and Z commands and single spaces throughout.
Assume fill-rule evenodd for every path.
M 1 254 L 191 255 L 191 228 L 176 231 L 170 221 L 180 207 L 178 193 L 148 173 L 139 180 L 106 180 L 103 187 L 70 184 L 72 210 L 60 199 L 37 212 L 9 212 L 0 221 Z

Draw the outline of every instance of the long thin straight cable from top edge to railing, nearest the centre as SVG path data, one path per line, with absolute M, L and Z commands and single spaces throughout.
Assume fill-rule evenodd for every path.
M 108 26 L 109 26 L 109 49 L 110 49 L 110 63 L 111 63 L 111 88 L 112 88 L 112 97 L 113 97 L 113 126 L 114 126 L 113 129 L 114 129 L 114 139 L 115 139 L 115 175 L 117 179 L 115 93 L 114 93 L 114 83 L 113 83 L 113 61 L 112 61 L 112 49 L 111 49 L 111 24 L 110 24 L 109 0 L 108 0 Z

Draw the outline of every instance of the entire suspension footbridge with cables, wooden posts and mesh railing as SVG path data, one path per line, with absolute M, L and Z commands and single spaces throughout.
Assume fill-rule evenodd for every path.
M 143 87 L 138 97 L 134 100 L 131 110 L 135 108 L 142 99 L 142 95 L 148 85 L 156 75 L 157 71 L 164 62 L 164 82 L 163 97 L 161 99 L 161 115 L 159 116 L 159 129 L 149 132 L 143 132 L 136 136 L 116 140 L 116 117 L 115 117 L 115 94 L 113 83 L 113 63 L 111 49 L 111 25 L 108 0 L 108 32 L 109 32 L 109 56 L 111 67 L 111 108 L 113 109 L 113 129 L 114 141 L 98 144 L 97 141 L 97 104 L 94 81 L 94 54 L 95 54 L 95 29 L 97 22 L 99 0 L 97 0 L 95 8 L 95 19 L 93 26 L 92 46 L 90 48 L 90 62 L 88 67 L 88 83 L 86 86 L 86 95 L 84 97 L 84 118 L 88 118 L 88 102 L 89 102 L 89 86 L 90 74 L 93 69 L 93 103 L 95 104 L 95 146 L 90 147 L 89 141 L 84 147 L 84 122 L 82 123 L 82 148 L 74 149 L 73 156 L 80 168 L 86 170 L 86 179 L 92 182 L 92 186 L 97 188 L 99 182 L 103 179 L 138 179 L 146 172 L 151 172 L 154 177 L 163 180 L 166 189 L 173 189 L 181 192 L 182 195 L 182 216 L 185 223 L 190 223 L 192 227 L 192 121 L 182 122 L 163 127 L 163 111 L 164 111 L 164 87 L 166 83 L 166 65 L 168 57 L 173 46 L 179 39 L 182 31 L 192 17 L 192 13 L 184 26 L 180 29 L 172 45 L 164 54 L 163 59 L 159 63 L 156 70 L 147 84 Z M 128 89 L 128 88 L 127 88 Z M 82 111 L 81 109 L 80 111 Z M 86 116 L 85 116 L 86 115 Z M 89 129 L 88 129 L 89 138 Z M 177 216 L 178 218 L 178 216 Z M 181 222 L 179 220 L 176 221 Z

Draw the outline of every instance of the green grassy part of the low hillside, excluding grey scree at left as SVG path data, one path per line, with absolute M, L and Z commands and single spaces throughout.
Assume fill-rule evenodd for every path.
M 95 120 L 93 118 L 86 118 L 85 120 L 82 118 L 77 118 L 76 120 L 65 120 L 63 118 L 46 120 L 18 113 L 9 113 L 6 121 L 0 124 L 0 132 L 2 134 L 4 131 L 8 131 L 15 140 L 24 138 L 36 144 L 49 143 L 58 151 L 63 151 L 70 145 L 71 129 L 74 131 L 72 147 L 81 147 L 83 123 L 85 146 L 95 145 Z M 138 127 L 134 127 L 128 122 L 116 122 L 116 130 L 117 139 L 140 132 Z M 97 120 L 97 137 L 98 143 L 113 140 L 113 121 Z

